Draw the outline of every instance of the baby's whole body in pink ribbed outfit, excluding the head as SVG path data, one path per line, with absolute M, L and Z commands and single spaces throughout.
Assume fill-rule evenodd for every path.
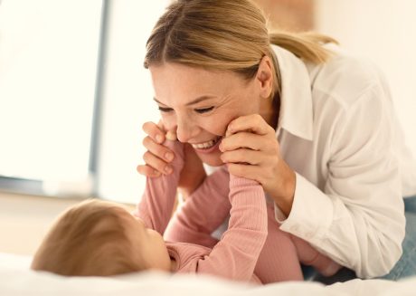
M 166 141 L 175 152 L 169 176 L 147 178 L 146 192 L 136 215 L 147 227 L 165 234 L 176 272 L 198 272 L 251 282 L 301 281 L 300 262 L 330 275 L 339 265 L 308 243 L 279 229 L 273 204 L 259 183 L 234 177 L 225 167 L 205 178 L 203 184 L 175 213 L 176 187 L 184 165 L 183 146 Z M 213 231 L 231 215 L 220 241 Z

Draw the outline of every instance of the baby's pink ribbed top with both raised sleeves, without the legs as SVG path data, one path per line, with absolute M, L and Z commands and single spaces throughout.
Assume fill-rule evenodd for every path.
M 174 173 L 147 178 L 146 191 L 134 213 L 160 234 L 165 233 L 172 216 L 179 175 L 184 166 L 183 145 L 177 141 L 166 141 L 165 145 L 175 152 Z M 212 248 L 195 243 L 166 243 L 169 255 L 176 261 L 176 272 L 260 282 L 254 275 L 254 268 L 268 234 L 264 193 L 259 183 L 241 177 L 230 177 L 229 186 L 231 218 L 220 242 Z M 213 206 L 217 205 L 213 203 Z

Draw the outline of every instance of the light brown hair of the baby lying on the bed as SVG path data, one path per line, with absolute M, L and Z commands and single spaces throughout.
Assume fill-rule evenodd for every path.
M 133 253 L 123 215 L 129 214 L 118 205 L 96 200 L 71 207 L 43 239 L 31 268 L 82 276 L 147 269 L 145 261 Z

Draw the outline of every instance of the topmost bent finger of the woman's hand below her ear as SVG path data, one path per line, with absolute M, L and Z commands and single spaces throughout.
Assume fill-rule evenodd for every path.
M 232 120 L 232 122 L 230 122 L 228 125 L 225 135 L 228 137 L 243 130 L 249 130 L 258 135 L 275 133 L 275 130 L 270 127 L 269 124 L 259 114 L 252 114 L 241 116 Z

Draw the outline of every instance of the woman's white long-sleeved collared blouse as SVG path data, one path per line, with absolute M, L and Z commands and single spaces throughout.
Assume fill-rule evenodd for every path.
M 416 162 L 404 146 L 383 74 L 370 62 L 336 56 L 305 64 L 274 46 L 282 97 L 277 137 L 296 171 L 280 228 L 362 278 L 389 272 L 402 254 L 402 196 L 416 194 Z

